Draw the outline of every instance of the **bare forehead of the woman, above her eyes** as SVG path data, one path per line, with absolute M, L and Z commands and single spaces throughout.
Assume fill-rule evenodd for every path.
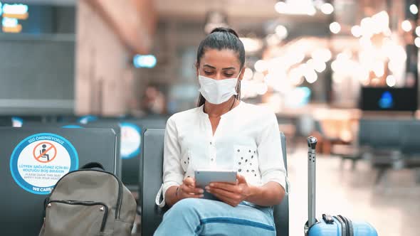
M 239 68 L 240 66 L 238 55 L 230 49 L 208 49 L 201 58 L 200 64 L 214 68 Z

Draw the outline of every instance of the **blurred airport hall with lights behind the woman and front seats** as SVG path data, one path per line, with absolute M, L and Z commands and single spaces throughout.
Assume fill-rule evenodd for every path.
M 317 215 L 419 235 L 419 0 L 0 0 L 0 125 L 164 117 L 196 106 L 200 41 L 246 49 L 242 100 L 288 139 L 290 235 Z

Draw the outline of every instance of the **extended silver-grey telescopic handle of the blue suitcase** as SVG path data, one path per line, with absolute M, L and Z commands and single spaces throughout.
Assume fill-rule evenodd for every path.
M 317 138 L 308 139 L 308 227 L 315 224 L 315 196 L 316 196 L 316 154 Z

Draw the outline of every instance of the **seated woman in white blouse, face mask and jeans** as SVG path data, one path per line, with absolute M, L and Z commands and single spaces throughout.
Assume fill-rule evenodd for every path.
M 272 205 L 285 195 L 275 114 L 240 101 L 245 50 L 231 28 L 216 28 L 197 51 L 198 107 L 168 119 L 162 194 L 172 206 L 154 235 L 275 235 Z M 235 169 L 237 183 L 211 183 L 203 198 L 194 170 Z

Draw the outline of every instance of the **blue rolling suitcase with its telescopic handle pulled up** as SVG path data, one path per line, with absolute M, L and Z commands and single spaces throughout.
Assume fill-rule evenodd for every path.
M 317 139 L 308 137 L 308 222 L 305 224 L 306 236 L 377 236 L 377 231 L 364 221 L 353 221 L 342 215 L 323 214 L 315 218 L 315 173 Z

